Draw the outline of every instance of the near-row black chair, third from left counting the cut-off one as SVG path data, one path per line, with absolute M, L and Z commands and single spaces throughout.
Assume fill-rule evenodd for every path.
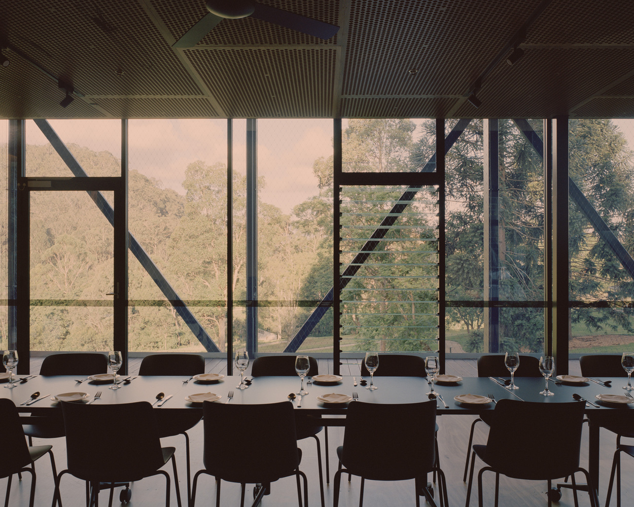
M 252 405 L 205 401 L 203 414 L 205 468 L 194 475 L 190 507 L 194 507 L 196 501 L 201 473 L 216 478 L 216 507 L 220 505 L 221 480 L 242 485 L 240 506 L 243 507 L 247 483 L 261 484 L 261 487 L 256 487 L 253 505 L 257 505 L 262 496 L 270 493 L 271 482 L 290 475 L 297 478 L 300 507 L 300 477 L 304 479 L 304 504 L 308 504 L 308 481 L 299 470 L 302 455 L 297 448 L 295 415 L 290 401 Z

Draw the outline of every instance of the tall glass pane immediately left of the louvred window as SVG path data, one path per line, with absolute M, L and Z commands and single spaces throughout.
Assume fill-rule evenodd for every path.
M 332 288 L 332 120 L 257 125 L 257 349 L 283 352 Z M 332 351 L 332 313 L 299 350 Z

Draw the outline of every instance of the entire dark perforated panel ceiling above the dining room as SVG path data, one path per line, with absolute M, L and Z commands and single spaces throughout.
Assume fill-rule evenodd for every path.
M 4 0 L 0 115 L 634 117 L 631 0 L 552 0 L 525 37 L 542 0 L 261 3 L 339 33 L 222 20 L 195 48 L 173 49 L 205 0 Z M 508 66 L 514 42 L 524 56 Z M 67 108 L 58 78 L 77 92 Z M 475 109 L 466 96 L 478 81 Z

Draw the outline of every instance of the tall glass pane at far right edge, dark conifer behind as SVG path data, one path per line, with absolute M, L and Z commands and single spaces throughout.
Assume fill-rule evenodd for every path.
M 620 354 L 634 342 L 634 120 L 568 125 L 569 346 Z

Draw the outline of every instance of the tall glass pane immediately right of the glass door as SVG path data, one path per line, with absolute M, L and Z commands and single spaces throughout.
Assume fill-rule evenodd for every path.
M 162 289 L 171 286 L 185 304 L 179 311 L 225 350 L 226 120 L 129 120 L 128 128 L 129 348 L 206 350 L 167 301 Z M 150 276 L 154 269 L 162 276 Z

